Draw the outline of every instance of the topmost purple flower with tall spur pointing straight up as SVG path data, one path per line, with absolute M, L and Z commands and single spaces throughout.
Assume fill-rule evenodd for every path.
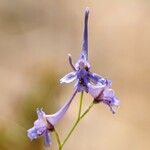
M 80 58 L 74 65 L 72 63 L 71 55 L 69 54 L 69 64 L 72 67 L 73 72 L 68 73 L 60 79 L 60 83 L 70 83 L 76 81 L 75 87 L 77 88 L 77 91 L 86 91 L 87 93 L 88 83 L 94 85 L 105 85 L 107 82 L 107 80 L 103 77 L 90 71 L 90 64 L 88 62 L 88 17 L 89 9 L 87 8 L 85 11 L 83 44 Z

